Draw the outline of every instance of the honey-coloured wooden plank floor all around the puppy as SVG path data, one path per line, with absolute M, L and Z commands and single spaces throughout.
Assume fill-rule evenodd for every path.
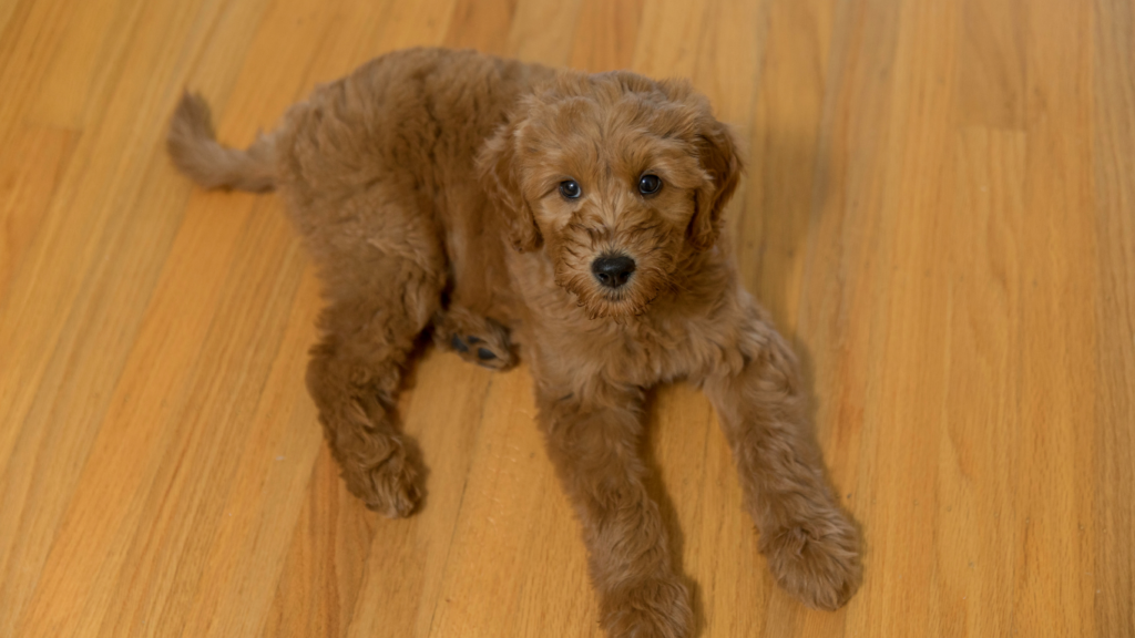
M 367 512 L 280 203 L 163 154 L 186 86 L 243 144 L 413 44 L 688 76 L 747 142 L 738 257 L 866 576 L 835 613 L 776 589 L 664 388 L 699 636 L 1135 636 L 1133 34 L 1126 0 L 0 1 L 0 636 L 600 635 L 526 370 L 428 353 L 424 509 Z

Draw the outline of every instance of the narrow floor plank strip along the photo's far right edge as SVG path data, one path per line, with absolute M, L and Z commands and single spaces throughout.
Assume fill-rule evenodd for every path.
M 1099 1 L 1092 17 L 1092 159 L 1099 387 L 1092 446 L 1095 630 L 1135 635 L 1135 11 Z M 1091 480 L 1091 479 L 1090 479 Z M 1094 538 L 1093 538 L 1094 537 Z

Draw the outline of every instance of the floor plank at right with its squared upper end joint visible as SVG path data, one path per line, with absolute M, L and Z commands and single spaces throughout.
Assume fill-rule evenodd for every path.
M 935 557 L 943 612 L 955 631 L 1011 631 L 1016 562 L 1004 547 L 1020 540 L 1014 451 L 1024 428 L 1016 381 L 1020 336 L 1015 325 L 1027 294 L 1018 237 L 1027 225 L 1023 132 L 964 128 L 956 138 L 951 219 L 948 400 L 939 429 Z

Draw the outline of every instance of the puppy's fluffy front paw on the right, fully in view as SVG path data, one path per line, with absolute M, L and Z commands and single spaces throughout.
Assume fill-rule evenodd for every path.
M 859 537 L 841 513 L 762 534 L 760 552 L 776 584 L 809 607 L 838 610 L 859 588 Z

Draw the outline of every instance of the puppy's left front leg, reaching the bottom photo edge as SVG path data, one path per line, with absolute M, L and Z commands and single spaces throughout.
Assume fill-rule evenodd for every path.
M 641 389 L 538 387 L 548 455 L 583 526 L 604 629 L 613 637 L 688 636 L 690 595 L 644 485 Z

